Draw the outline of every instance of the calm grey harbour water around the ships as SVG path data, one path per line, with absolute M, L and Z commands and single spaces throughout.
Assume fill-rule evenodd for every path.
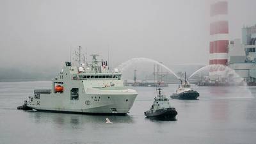
M 196 87 L 199 100 L 171 100 L 177 121 L 145 118 L 155 88 L 134 88 L 127 116 L 92 116 L 17 110 L 34 88 L 50 81 L 0 83 L 0 143 L 256 143 L 256 87 Z M 170 95 L 177 88 L 164 88 Z M 113 124 L 106 124 L 108 117 Z

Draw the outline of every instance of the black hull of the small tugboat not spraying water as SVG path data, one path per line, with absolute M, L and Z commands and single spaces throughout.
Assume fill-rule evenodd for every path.
M 177 111 L 175 108 L 166 108 L 166 109 L 158 109 L 154 112 L 145 111 L 144 115 L 148 118 L 159 118 L 159 119 L 173 119 L 175 120 L 175 116 L 177 115 Z

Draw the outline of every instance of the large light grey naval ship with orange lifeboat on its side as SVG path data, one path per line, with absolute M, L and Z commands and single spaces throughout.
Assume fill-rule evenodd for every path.
M 98 61 L 97 54 L 91 56 L 92 63 L 87 65 L 79 62 L 77 67 L 66 62 L 52 80 L 51 89 L 35 90 L 24 109 L 61 113 L 129 113 L 138 93 L 124 86 L 121 72 L 117 69 L 109 72 L 107 61 Z

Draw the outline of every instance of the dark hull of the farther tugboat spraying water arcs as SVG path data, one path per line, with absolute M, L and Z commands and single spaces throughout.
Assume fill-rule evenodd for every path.
M 172 99 L 196 100 L 199 97 L 199 93 L 195 90 L 189 90 L 182 93 L 173 93 L 170 97 Z

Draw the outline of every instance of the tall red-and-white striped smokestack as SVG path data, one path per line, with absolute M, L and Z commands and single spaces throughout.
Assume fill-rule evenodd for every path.
M 212 0 L 210 8 L 210 65 L 227 65 L 228 61 L 228 0 Z M 212 71 L 212 70 L 211 70 Z M 213 72 L 210 71 L 210 75 Z M 214 70 L 213 70 L 214 71 Z M 212 73 L 212 74 L 211 74 Z

